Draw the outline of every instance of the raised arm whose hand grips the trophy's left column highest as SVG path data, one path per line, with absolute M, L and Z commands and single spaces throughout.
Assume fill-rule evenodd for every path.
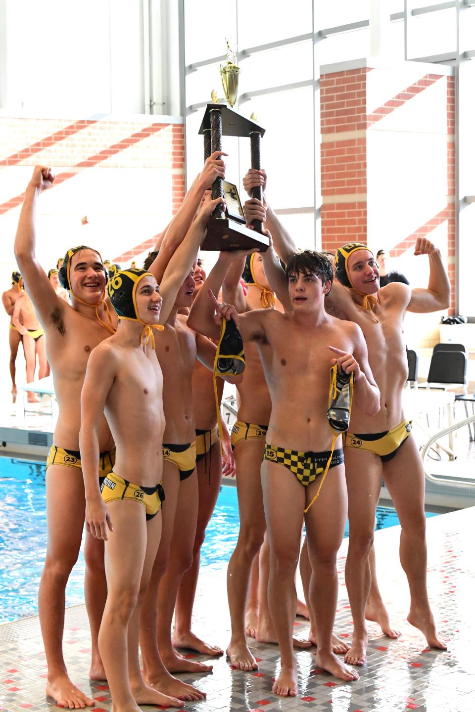
M 153 263 L 153 270 L 150 268 L 150 271 L 155 275 L 159 284 L 165 274 L 167 264 L 175 250 L 182 243 L 194 216 L 197 214 L 205 191 L 212 185 L 216 176 L 224 178 L 224 161 L 219 158 L 220 156 L 227 156 L 227 153 L 215 151 L 207 159 L 202 172 L 194 179 L 192 186 L 184 197 L 179 211 L 165 228 L 165 231 L 162 232 L 160 240 L 157 242 L 155 249 L 160 249 L 160 253 Z

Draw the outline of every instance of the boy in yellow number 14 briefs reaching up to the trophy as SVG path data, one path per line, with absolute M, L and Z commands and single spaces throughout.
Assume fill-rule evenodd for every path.
M 197 239 L 194 254 L 191 253 L 191 249 L 189 252 L 189 272 L 179 289 L 172 312 L 166 320 L 161 319 L 165 331 L 156 341 L 157 357 L 164 377 L 163 404 L 166 425 L 163 473 L 167 507 L 163 513 L 162 541 L 152 572 L 142 619 L 147 617 L 147 627 L 153 629 L 154 606 L 155 616 L 158 608 L 158 648 L 160 658 L 169 672 L 207 672 L 212 669 L 209 665 L 194 662 L 177 654 L 172 646 L 171 625 L 182 576 L 192 565 L 197 530 L 199 493 L 195 468 L 196 433 L 192 375 L 197 358 L 212 370 L 216 355 L 216 346 L 212 341 L 194 333 L 187 326 L 187 316 L 179 314 L 178 310 L 192 305 L 195 285 L 192 266 L 199 245 L 204 239 L 207 221 L 212 212 L 211 206 L 216 206 L 218 201 L 219 199 L 205 201 L 189 229 L 189 234 L 196 236 Z M 155 262 L 150 266 L 150 271 L 154 271 L 165 248 L 164 241 Z M 227 379 L 236 382 L 236 377 L 227 377 Z M 144 669 L 150 681 L 155 681 L 156 677 L 157 642 L 145 634 L 141 638 Z M 212 654 L 220 654 L 220 652 L 217 649 Z

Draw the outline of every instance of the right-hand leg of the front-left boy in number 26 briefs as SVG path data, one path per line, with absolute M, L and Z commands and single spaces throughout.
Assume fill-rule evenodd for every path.
M 145 514 L 144 514 L 145 518 Z M 137 705 L 160 705 L 163 707 L 182 707 L 183 702 L 174 697 L 164 695 L 155 688 L 147 685 L 142 677 L 139 661 L 139 631 L 140 612 L 142 603 L 147 592 L 150 581 L 150 574 L 157 556 L 160 545 L 160 535 L 162 532 L 162 511 L 158 511 L 155 517 L 147 521 L 147 549 L 140 580 L 140 590 L 137 597 L 137 606 L 129 622 L 127 635 L 129 681 L 132 696 Z

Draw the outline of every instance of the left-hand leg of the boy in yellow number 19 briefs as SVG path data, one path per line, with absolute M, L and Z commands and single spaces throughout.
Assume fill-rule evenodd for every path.
M 227 572 L 231 642 L 226 648 L 231 665 L 241 670 L 257 669 L 246 642 L 245 610 L 252 562 L 259 552 L 266 530 L 262 503 L 260 468 L 264 443 L 242 440 L 234 449 L 239 503 L 239 536 Z

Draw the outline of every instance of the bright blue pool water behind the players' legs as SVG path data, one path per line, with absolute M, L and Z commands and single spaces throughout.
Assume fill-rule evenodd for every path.
M 46 488 L 43 463 L 0 456 L 0 624 L 35 615 L 46 555 Z M 427 516 L 432 516 L 427 513 Z M 399 524 L 394 509 L 377 508 L 377 529 Z M 236 488 L 221 487 L 207 528 L 201 566 L 221 568 L 239 533 Z M 348 525 L 345 531 L 348 536 Z M 66 606 L 84 602 L 83 547 L 66 587 Z

